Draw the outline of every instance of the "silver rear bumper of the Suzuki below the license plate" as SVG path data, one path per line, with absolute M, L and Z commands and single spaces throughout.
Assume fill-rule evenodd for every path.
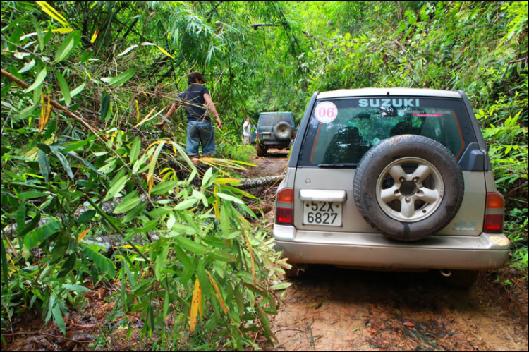
M 388 269 L 499 269 L 511 247 L 503 234 L 398 242 L 379 233 L 298 231 L 277 224 L 274 238 L 276 250 L 282 250 L 289 262 Z

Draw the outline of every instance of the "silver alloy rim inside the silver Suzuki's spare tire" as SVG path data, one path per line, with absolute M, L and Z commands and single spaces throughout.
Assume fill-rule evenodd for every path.
M 412 174 L 406 174 L 403 165 L 415 164 L 417 169 Z M 423 182 L 432 176 L 430 187 Z M 388 176 L 393 186 L 383 188 Z M 385 182 L 384 182 L 385 181 Z M 439 205 L 444 193 L 444 182 L 439 170 L 430 162 L 418 157 L 404 157 L 395 160 L 382 171 L 377 180 L 377 201 L 382 211 L 398 221 L 415 222 L 429 217 Z M 398 200 L 400 210 L 394 210 L 391 203 Z M 418 202 L 419 201 L 419 202 Z

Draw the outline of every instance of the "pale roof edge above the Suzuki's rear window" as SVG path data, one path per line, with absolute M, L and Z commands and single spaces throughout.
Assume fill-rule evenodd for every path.
M 412 95 L 423 97 L 443 97 L 443 98 L 459 98 L 461 95 L 458 92 L 450 90 L 434 90 L 434 89 L 417 89 L 417 88 L 361 88 L 361 89 L 341 89 L 331 90 L 329 92 L 321 92 L 317 99 L 341 98 L 341 97 L 370 97 L 381 95 Z

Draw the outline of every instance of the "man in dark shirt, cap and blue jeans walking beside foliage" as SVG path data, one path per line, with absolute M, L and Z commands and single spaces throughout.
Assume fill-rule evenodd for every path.
M 215 154 L 215 134 L 207 108 L 214 114 L 219 128 L 222 127 L 217 109 L 215 109 L 215 105 L 209 96 L 209 90 L 207 90 L 205 85 L 202 85 L 205 82 L 200 73 L 190 73 L 188 88 L 178 95 L 178 99 L 171 105 L 171 109 L 165 115 L 165 119 L 169 119 L 176 107 L 183 105 L 188 118 L 186 152 L 195 165 L 198 164 L 199 145 L 202 145 L 202 155 L 204 157 L 211 157 Z M 157 126 L 164 126 L 164 122 Z

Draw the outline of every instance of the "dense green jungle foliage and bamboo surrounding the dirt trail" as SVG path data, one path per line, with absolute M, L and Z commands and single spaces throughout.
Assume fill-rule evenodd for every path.
M 152 348 L 243 349 L 257 347 L 250 332 L 273 338 L 267 315 L 286 286 L 272 281 L 288 265 L 245 220 L 253 212 L 241 190 L 219 181 L 241 164 L 213 159 L 199 172 L 182 147 L 183 109 L 164 131 L 154 126 L 195 70 L 223 121 L 217 154 L 242 162 L 255 155 L 241 146 L 246 116 L 292 111 L 300 121 L 316 90 L 463 90 L 506 197 L 506 232 L 527 238 L 526 2 L 52 6 L 2 3 L 1 68 L 28 84 L 2 75 L 1 224 L 18 225 L 2 233 L 3 330 L 36 307 L 65 332 L 63 316 L 84 304 L 91 280 L 121 283 L 107 317 L 117 323 L 105 329 L 131 332 L 129 313 L 141 312 Z M 113 216 L 101 210 L 107 200 L 121 201 Z M 95 241 L 103 233 L 123 238 L 107 251 Z M 509 265 L 527 277 L 527 248 Z M 190 331 L 193 293 L 202 313 Z

